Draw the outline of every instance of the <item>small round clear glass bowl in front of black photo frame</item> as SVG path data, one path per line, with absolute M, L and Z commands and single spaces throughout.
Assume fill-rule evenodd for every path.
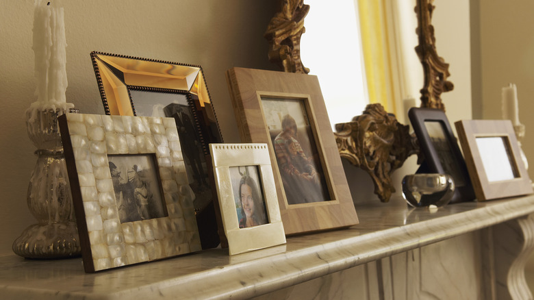
M 453 177 L 446 174 L 414 174 L 403 178 L 403 197 L 414 208 L 431 205 L 440 208 L 450 202 L 454 192 Z

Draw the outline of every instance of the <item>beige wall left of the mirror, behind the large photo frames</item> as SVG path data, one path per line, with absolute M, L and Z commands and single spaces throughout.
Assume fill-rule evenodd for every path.
M 103 114 L 90 51 L 200 64 L 225 141 L 240 142 L 225 71 L 233 66 L 275 69 L 263 38 L 275 14 L 272 0 L 54 1 L 64 7 L 67 101 Z M 34 1 L 2 1 L 0 9 L 0 255 L 28 225 L 26 192 L 35 147 L 23 113 L 36 100 L 31 50 Z

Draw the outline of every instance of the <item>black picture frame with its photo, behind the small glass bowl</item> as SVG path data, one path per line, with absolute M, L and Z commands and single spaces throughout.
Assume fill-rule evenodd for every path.
M 445 113 L 436 108 L 411 108 L 408 116 L 424 155 L 418 173 L 453 177 L 456 189 L 450 203 L 474 200 L 466 162 Z

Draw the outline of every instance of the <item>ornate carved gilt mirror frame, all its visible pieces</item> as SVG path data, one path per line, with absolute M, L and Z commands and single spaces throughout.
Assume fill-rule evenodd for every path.
M 448 64 L 437 55 L 434 28 L 431 18 L 433 0 L 417 0 L 419 45 L 416 53 L 424 72 L 421 107 L 445 110 L 440 95 L 453 90 L 447 81 Z M 285 72 L 308 73 L 300 58 L 300 40 L 305 32 L 304 17 L 309 5 L 303 0 L 281 0 L 281 11 L 271 19 L 265 38 L 270 43 L 269 60 Z M 412 154 L 420 155 L 416 137 L 409 134 L 409 127 L 398 123 L 395 116 L 387 114 L 380 104 L 367 105 L 366 110 L 351 122 L 335 125 L 334 133 L 342 158 L 364 169 L 374 182 L 374 193 L 387 202 L 395 192 L 391 175 Z M 421 156 L 419 161 L 421 161 Z

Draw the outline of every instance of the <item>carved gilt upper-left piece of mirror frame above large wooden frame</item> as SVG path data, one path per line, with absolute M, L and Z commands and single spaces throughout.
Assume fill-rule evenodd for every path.
M 282 0 L 281 11 L 272 17 L 264 37 L 268 40 L 269 60 L 289 73 L 309 73 L 301 61 L 301 36 L 309 5 L 303 0 Z

